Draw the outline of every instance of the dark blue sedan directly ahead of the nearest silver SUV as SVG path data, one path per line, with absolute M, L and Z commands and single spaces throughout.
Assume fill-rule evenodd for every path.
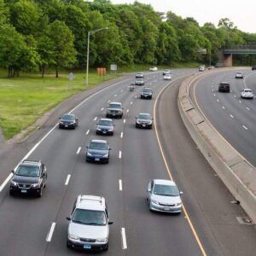
M 91 140 L 86 146 L 86 161 L 106 163 L 109 161 L 109 144 L 105 140 Z

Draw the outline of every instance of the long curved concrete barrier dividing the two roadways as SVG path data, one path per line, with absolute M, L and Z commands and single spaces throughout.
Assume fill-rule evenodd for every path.
M 192 79 L 186 79 L 179 89 L 177 103 L 183 123 L 218 177 L 256 224 L 256 168 L 219 136 L 196 109 L 188 93 Z

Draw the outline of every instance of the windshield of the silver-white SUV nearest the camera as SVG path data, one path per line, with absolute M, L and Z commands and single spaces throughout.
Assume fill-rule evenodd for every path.
M 72 221 L 79 224 L 86 225 L 106 225 L 107 218 L 105 212 L 92 211 L 85 209 L 76 209 L 73 213 Z

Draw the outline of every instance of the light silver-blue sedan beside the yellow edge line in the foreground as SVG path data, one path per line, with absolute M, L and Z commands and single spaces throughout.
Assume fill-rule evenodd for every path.
M 148 183 L 147 200 L 150 211 L 182 212 L 182 200 L 176 184 L 171 180 L 154 179 Z

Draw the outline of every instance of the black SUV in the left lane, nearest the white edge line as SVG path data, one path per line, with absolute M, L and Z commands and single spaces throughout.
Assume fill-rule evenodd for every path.
M 9 194 L 33 194 L 41 197 L 46 186 L 47 171 L 39 160 L 23 160 L 16 171 L 12 171 Z

